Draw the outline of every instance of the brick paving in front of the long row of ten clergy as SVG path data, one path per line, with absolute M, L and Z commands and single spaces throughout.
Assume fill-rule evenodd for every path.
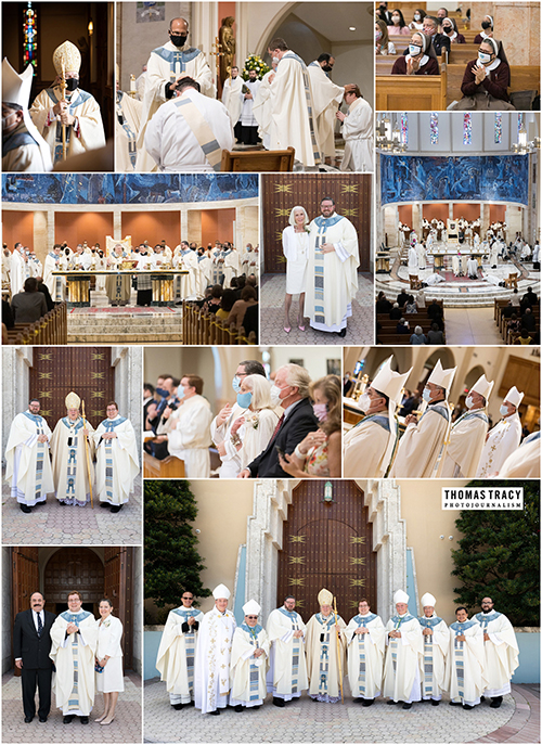
M 526 686 L 514 685 L 500 709 L 481 704 L 472 711 L 414 704 L 404 711 L 383 698 L 370 708 L 353 704 L 318 704 L 306 695 L 279 709 L 271 696 L 261 709 L 220 717 L 203 716 L 190 707 L 176 711 L 166 684 L 145 682 L 145 742 L 147 743 L 538 743 L 540 701 Z

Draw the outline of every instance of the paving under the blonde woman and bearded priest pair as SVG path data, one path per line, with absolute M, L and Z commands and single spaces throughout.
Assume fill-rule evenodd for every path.
M 352 317 L 348 319 L 345 338 L 337 334 L 315 331 L 306 320 L 306 331 L 299 331 L 295 323 L 298 312 L 298 297 L 294 296 L 289 320 L 292 331 L 284 331 L 284 295 L 286 274 L 264 274 L 261 278 L 260 343 L 263 345 L 308 345 L 308 344 L 373 344 L 374 338 L 374 291 L 373 275 L 360 273 L 359 290 L 352 300 Z

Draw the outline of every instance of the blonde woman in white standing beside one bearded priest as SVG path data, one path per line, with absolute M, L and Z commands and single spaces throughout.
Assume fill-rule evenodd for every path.
M 282 231 L 282 253 L 286 258 L 286 298 L 284 304 L 284 331 L 289 334 L 289 309 L 292 295 L 299 295 L 297 325 L 305 331 L 305 283 L 309 255 L 309 216 L 305 207 L 294 207 L 289 213 L 289 224 Z

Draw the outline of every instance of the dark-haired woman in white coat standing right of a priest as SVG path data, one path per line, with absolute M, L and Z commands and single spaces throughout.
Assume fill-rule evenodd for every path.
M 118 694 L 125 690 L 122 672 L 122 624 L 113 615 L 111 600 L 100 601 L 100 620 L 98 624 L 96 645 L 96 692 L 101 691 L 104 698 L 104 712 L 95 721 L 102 725 L 111 724 L 115 719 Z M 100 668 L 101 671 L 100 671 Z

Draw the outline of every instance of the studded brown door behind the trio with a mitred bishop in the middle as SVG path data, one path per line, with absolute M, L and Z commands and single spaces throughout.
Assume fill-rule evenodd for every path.
M 30 398 L 40 400 L 40 413 L 53 429 L 66 415 L 64 400 L 74 390 L 95 428 L 106 416 L 107 401 L 115 398 L 114 372 L 109 347 L 35 347 Z

